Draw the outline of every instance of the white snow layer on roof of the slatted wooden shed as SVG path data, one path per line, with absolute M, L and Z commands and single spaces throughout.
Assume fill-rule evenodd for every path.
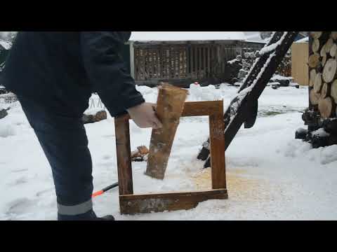
M 243 31 L 132 31 L 130 41 L 244 41 Z

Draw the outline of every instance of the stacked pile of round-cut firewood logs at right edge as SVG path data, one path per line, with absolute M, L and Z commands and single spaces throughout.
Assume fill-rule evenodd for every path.
M 309 108 L 303 113 L 314 147 L 337 144 L 337 31 L 312 31 L 309 40 Z

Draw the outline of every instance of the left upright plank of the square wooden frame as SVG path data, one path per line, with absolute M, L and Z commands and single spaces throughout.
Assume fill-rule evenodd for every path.
M 129 116 L 114 118 L 119 195 L 133 194 Z

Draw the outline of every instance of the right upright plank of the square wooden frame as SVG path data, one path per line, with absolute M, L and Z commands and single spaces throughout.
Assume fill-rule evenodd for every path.
M 212 188 L 226 187 L 225 170 L 225 123 L 223 121 L 223 103 L 217 113 L 209 116 L 209 136 L 211 142 Z

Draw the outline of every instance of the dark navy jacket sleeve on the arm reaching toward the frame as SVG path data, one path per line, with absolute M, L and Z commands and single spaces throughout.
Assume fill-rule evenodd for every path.
M 93 92 L 97 92 L 112 116 L 145 102 L 126 71 L 121 50 L 131 33 L 80 32 L 81 55 Z

